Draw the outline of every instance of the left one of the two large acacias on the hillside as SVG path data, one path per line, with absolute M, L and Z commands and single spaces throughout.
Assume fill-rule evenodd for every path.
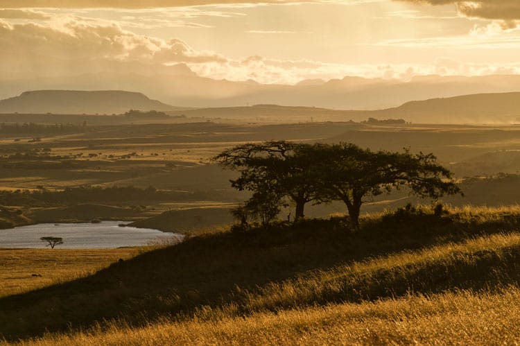
M 246 207 L 259 207 L 262 203 L 281 207 L 284 197 L 288 197 L 295 205 L 295 220 L 298 220 L 304 216 L 307 202 L 320 199 L 315 189 L 317 180 L 313 177 L 316 170 L 312 168 L 313 156 L 309 155 L 311 148 L 309 144 L 267 141 L 236 146 L 214 159 L 239 171 L 239 178 L 231 183 L 240 191 L 253 192 Z

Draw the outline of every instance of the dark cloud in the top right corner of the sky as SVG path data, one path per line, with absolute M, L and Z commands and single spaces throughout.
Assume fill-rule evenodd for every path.
M 410 3 L 428 3 L 430 5 L 456 6 L 460 15 L 481 19 L 499 19 L 505 22 L 505 26 L 512 26 L 520 20 L 520 1 L 518 0 L 395 0 Z

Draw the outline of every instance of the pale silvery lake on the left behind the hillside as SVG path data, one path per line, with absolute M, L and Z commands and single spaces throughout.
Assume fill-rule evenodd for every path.
M 0 248 L 45 248 L 42 236 L 63 239 L 62 249 L 102 249 L 182 241 L 182 234 L 136 227 L 119 227 L 121 221 L 102 223 L 40 223 L 0 230 Z

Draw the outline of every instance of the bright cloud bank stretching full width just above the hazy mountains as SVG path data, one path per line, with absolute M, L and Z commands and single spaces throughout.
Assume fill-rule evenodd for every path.
M 88 74 L 103 76 L 103 73 L 155 76 L 166 73 L 175 64 L 185 64 L 191 71 L 207 78 L 255 80 L 264 84 L 294 84 L 304 79 L 329 80 L 343 76 L 408 80 L 427 74 L 520 73 L 520 63 L 461 64 L 439 60 L 432 64 L 341 64 L 305 59 L 277 60 L 257 55 L 232 59 L 211 51 L 197 51 L 177 38 L 163 40 L 132 33 L 115 21 L 71 15 L 56 15 L 52 20 L 39 23 L 12 23 L 1 19 L 23 18 L 35 13 L 38 15 L 31 11 L 0 11 L 0 46 L 3 48 L 0 79 L 59 80 Z M 388 44 L 406 46 L 408 43 Z M 190 73 L 189 70 L 185 72 Z

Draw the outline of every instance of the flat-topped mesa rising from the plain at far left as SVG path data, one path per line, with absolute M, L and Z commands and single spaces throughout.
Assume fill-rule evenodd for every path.
M 0 113 L 121 114 L 128 110 L 178 110 L 140 92 L 36 90 L 0 101 Z

